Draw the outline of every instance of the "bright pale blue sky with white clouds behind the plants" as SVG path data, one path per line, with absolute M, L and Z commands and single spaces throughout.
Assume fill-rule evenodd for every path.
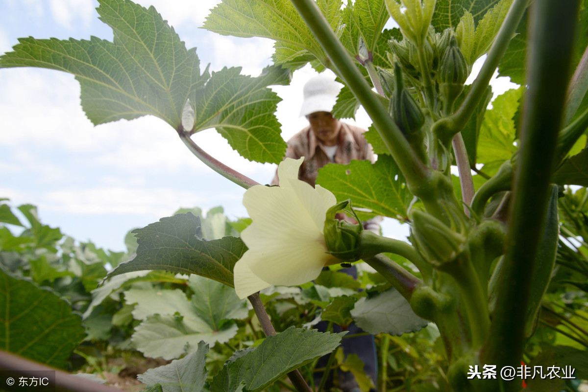
M 242 66 L 257 76 L 270 63 L 273 42 L 233 38 L 199 28 L 218 0 L 138 0 L 153 5 L 188 48 L 196 47 L 211 70 Z M 99 21 L 96 0 L 0 0 L 0 53 L 18 38 L 112 39 Z M 315 72 L 293 75 L 290 86 L 275 87 L 283 99 L 276 116 L 288 140 L 306 126 L 298 116 L 302 86 Z M 502 79 L 502 78 L 501 78 Z M 155 117 L 92 126 L 79 104 L 74 76 L 36 68 L 0 69 L 0 198 L 12 205 L 35 204 L 45 224 L 79 241 L 121 251 L 129 229 L 143 227 L 180 207 L 205 211 L 222 205 L 230 218 L 246 216 L 244 190 L 220 177 L 183 146 L 177 134 Z M 360 111 L 357 124 L 371 121 Z M 350 121 L 352 122 L 352 121 Z M 209 154 L 259 183 L 268 183 L 275 165 L 238 156 L 215 130 L 194 137 Z M 392 219 L 384 233 L 407 235 Z

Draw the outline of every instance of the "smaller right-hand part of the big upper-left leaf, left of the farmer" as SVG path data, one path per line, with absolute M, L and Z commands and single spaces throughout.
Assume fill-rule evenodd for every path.
M 213 72 L 202 89 L 194 90 L 194 132 L 216 128 L 230 146 L 249 160 L 279 163 L 286 151 L 280 123 L 273 114 L 280 98 L 269 85 L 286 85 L 290 71 L 269 67 L 262 76 L 240 75 L 240 67 Z

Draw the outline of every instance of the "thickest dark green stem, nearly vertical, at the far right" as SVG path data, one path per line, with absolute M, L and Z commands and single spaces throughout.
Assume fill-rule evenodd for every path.
M 557 134 L 562 124 L 566 86 L 579 1 L 533 2 L 527 54 L 529 89 L 524 97 L 503 271 L 496 310 L 481 362 L 517 366 L 537 249 L 543 238 L 550 197 Z M 507 383 L 507 391 L 516 383 Z M 520 387 L 520 385 L 519 385 Z

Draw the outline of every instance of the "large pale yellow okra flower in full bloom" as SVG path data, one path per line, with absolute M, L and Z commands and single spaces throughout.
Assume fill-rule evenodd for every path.
M 298 180 L 303 159 L 280 163 L 279 187 L 255 185 L 243 196 L 252 224 L 241 233 L 249 249 L 233 269 L 239 298 L 273 285 L 301 285 L 340 262 L 327 253 L 323 234 L 335 195 Z

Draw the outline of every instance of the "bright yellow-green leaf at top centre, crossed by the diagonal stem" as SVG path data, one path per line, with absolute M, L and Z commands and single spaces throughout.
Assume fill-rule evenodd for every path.
M 336 26 L 340 0 L 319 0 L 323 15 Z M 306 23 L 286 0 L 225 0 L 206 18 L 203 27 L 222 35 L 276 40 L 276 63 L 289 63 L 308 53 L 323 63 L 327 56 Z

